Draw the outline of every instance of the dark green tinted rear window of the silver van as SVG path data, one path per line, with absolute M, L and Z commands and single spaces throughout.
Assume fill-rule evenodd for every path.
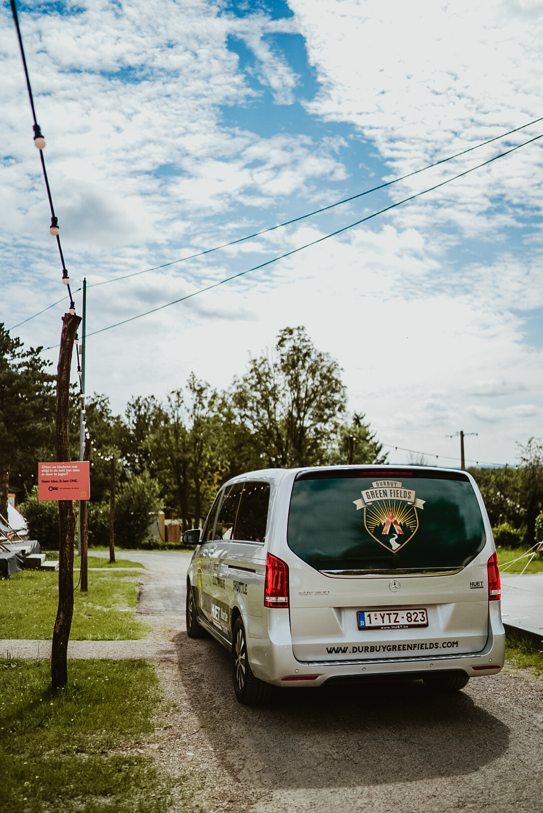
M 438 571 L 484 548 L 483 517 L 462 472 L 315 471 L 298 475 L 288 544 L 320 571 Z

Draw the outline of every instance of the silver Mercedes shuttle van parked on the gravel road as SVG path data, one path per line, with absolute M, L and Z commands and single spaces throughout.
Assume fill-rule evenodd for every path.
M 267 469 L 220 489 L 187 574 L 187 632 L 232 652 L 238 700 L 393 678 L 462 689 L 504 663 L 500 576 L 467 472 Z

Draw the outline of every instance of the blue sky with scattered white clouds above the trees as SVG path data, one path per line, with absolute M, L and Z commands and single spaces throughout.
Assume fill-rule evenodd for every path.
M 541 437 L 543 138 L 102 328 L 540 136 L 543 121 L 180 262 L 539 119 L 543 2 L 18 8 L 72 289 L 88 285 L 88 394 L 122 412 L 190 372 L 223 389 L 302 324 L 390 462 L 418 459 L 408 449 L 458 467 L 462 429 L 468 461 L 515 464 Z M 62 267 L 8 3 L 0 14 L 0 322 L 56 364 L 66 303 L 28 318 L 63 297 Z

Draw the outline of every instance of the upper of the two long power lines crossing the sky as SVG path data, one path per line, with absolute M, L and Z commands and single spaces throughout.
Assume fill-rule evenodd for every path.
M 260 232 L 255 232 L 254 234 L 248 234 L 245 237 L 239 237 L 237 240 L 232 240 L 228 243 L 222 243 L 220 246 L 213 246 L 211 249 L 205 249 L 203 251 L 198 251 L 196 254 L 189 254 L 186 257 L 181 257 L 180 259 L 172 260 L 170 263 L 163 263 L 162 265 L 155 265 L 151 268 L 144 268 L 143 271 L 136 271 L 132 272 L 131 274 L 124 274 L 123 276 L 115 276 L 111 280 L 103 280 L 102 282 L 93 282 L 91 285 L 87 285 L 88 288 L 96 288 L 98 285 L 109 285 L 111 282 L 119 282 L 119 280 L 128 280 L 132 276 L 141 276 L 141 274 L 148 274 L 152 271 L 159 271 L 161 268 L 167 268 L 172 265 L 177 265 L 178 263 L 185 263 L 189 259 L 196 259 L 197 257 L 202 257 L 204 254 L 211 254 L 214 251 L 219 251 L 224 248 L 228 248 L 229 246 L 236 246 L 237 243 L 241 243 L 247 240 L 252 240 L 254 237 L 259 237 L 262 234 L 267 234 L 269 232 L 275 231 L 277 228 L 283 228 L 285 226 L 289 226 L 293 223 L 298 223 L 300 220 L 306 220 L 308 217 L 312 217 L 313 215 L 319 215 L 324 211 L 328 211 L 329 209 L 333 209 L 334 207 L 341 206 L 344 203 L 349 203 L 350 201 L 356 200 L 357 198 L 363 198 L 364 195 L 369 195 L 372 192 L 377 192 L 379 189 L 384 189 L 387 186 L 392 186 L 393 184 L 397 184 L 400 180 L 406 180 L 407 178 L 411 178 L 412 176 L 418 175 L 420 172 L 426 172 L 428 169 L 432 169 L 432 167 L 437 167 L 441 163 L 447 163 L 448 161 L 452 161 L 455 158 L 459 158 L 461 155 L 465 155 L 473 150 L 479 150 L 480 147 L 486 146 L 487 144 L 491 144 L 493 141 L 499 141 L 506 136 L 510 136 L 512 133 L 519 133 L 520 130 L 523 130 L 527 127 L 530 127 L 532 124 L 537 124 L 537 122 L 543 121 L 543 116 L 539 119 L 534 119 L 533 121 L 528 122 L 528 124 L 522 124 L 520 127 L 516 127 L 513 130 L 508 130 L 506 133 L 502 133 L 499 136 L 494 136 L 493 138 L 489 138 L 488 141 L 481 141 L 480 144 L 476 144 L 472 147 L 467 147 L 466 150 L 461 150 L 461 152 L 455 153 L 454 155 L 450 155 L 448 158 L 440 159 L 435 163 L 430 163 L 426 167 L 421 167 L 420 169 L 416 169 L 415 172 L 409 172 L 407 175 L 402 175 L 397 178 L 393 178 L 393 180 L 389 180 L 384 184 L 380 184 L 378 186 L 374 186 L 371 189 L 366 189 L 364 192 L 360 192 L 356 195 L 351 195 L 350 198 L 344 198 L 341 201 L 337 201 L 335 203 L 331 203 L 327 207 L 322 207 L 321 209 L 315 209 L 315 211 L 308 212 L 306 215 L 300 215 L 299 217 L 293 218 L 293 220 L 285 220 L 285 223 L 276 224 L 275 226 L 270 226 L 269 228 L 263 228 Z M 78 291 L 80 288 L 77 289 Z M 61 300 L 62 301 L 62 300 Z M 53 305 L 49 307 L 54 307 L 54 305 L 58 305 L 59 302 L 54 302 Z M 44 311 L 48 310 L 45 308 Z M 29 316 L 28 319 L 24 320 L 24 322 L 20 322 L 19 324 L 15 324 L 13 328 L 18 328 L 21 324 L 25 322 L 29 322 L 33 320 L 36 316 L 41 315 L 44 311 L 39 311 L 38 313 L 34 314 L 33 316 Z

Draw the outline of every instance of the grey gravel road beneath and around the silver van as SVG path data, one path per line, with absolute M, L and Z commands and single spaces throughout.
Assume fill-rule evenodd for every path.
M 189 554 L 133 557 L 148 571 L 138 612 L 176 652 L 158 664 L 176 707 L 141 746 L 198 785 L 184 810 L 543 813 L 543 681 L 507 669 L 451 696 L 389 683 L 241 706 L 228 653 L 186 636 Z

